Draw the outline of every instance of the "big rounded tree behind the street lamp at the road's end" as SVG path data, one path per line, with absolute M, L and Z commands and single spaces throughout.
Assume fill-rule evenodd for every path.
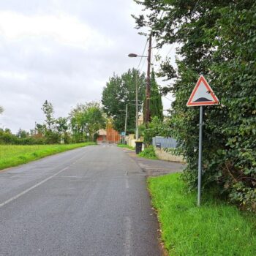
M 127 130 L 135 131 L 135 89 L 138 83 L 138 107 L 142 108 L 145 95 L 145 74 L 136 69 L 129 69 L 121 76 L 113 75 L 102 92 L 103 110 L 113 118 L 113 126 L 119 132 L 124 131 L 125 110 L 128 106 Z

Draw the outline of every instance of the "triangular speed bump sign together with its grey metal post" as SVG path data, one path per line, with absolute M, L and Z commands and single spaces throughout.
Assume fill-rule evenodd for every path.
M 200 106 L 199 118 L 199 145 L 198 145 L 198 192 L 197 192 L 197 206 L 201 203 L 201 183 L 202 183 L 202 146 L 203 146 L 203 106 L 217 105 L 219 99 L 214 94 L 211 86 L 208 85 L 206 78 L 200 75 L 197 80 L 194 90 L 189 97 L 187 107 Z

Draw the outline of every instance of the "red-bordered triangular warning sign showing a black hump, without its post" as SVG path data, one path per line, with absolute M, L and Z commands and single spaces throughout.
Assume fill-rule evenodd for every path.
M 211 86 L 208 85 L 206 78 L 204 78 L 203 75 L 200 75 L 200 78 L 189 97 L 187 107 L 216 105 L 218 103 L 219 99 L 215 96 Z

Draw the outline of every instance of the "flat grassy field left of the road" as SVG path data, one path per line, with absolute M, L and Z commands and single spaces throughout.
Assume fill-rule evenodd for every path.
M 22 165 L 51 154 L 67 151 L 82 146 L 94 145 L 95 143 L 77 143 L 61 145 L 0 145 L 0 170 L 16 165 Z

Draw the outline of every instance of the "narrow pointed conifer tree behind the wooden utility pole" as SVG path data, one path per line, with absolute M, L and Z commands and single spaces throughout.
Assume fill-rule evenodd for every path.
M 152 120 L 155 116 L 159 118 L 159 121 L 163 121 L 163 113 L 162 113 L 162 97 L 159 93 L 159 86 L 157 85 L 157 81 L 155 78 L 154 69 L 151 72 L 151 82 L 150 82 L 151 92 L 150 92 L 150 105 L 149 105 L 149 113 L 150 120 Z M 143 116 L 146 117 L 146 97 L 143 102 Z

